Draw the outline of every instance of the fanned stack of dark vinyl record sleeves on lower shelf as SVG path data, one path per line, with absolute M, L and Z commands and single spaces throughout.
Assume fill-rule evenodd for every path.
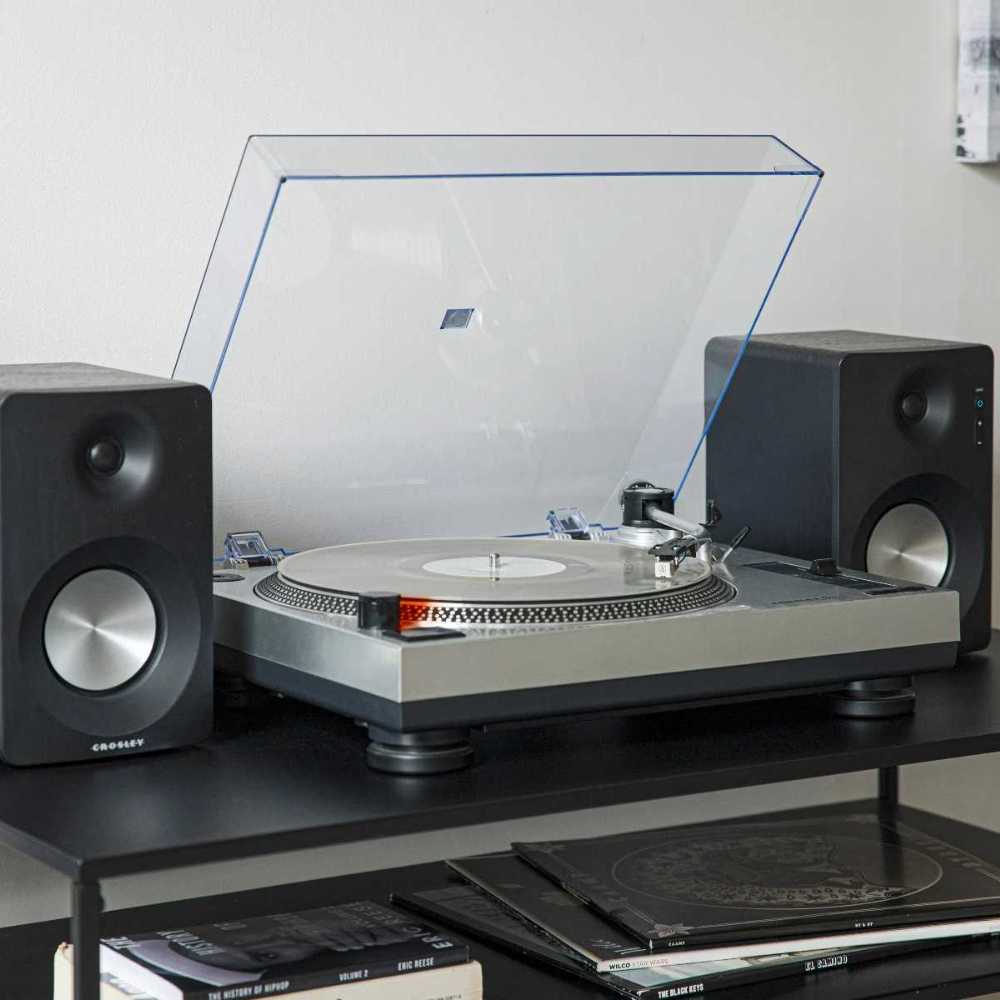
M 393 901 L 626 997 L 1000 932 L 1000 869 L 871 812 L 516 843 L 448 864 L 451 879 Z

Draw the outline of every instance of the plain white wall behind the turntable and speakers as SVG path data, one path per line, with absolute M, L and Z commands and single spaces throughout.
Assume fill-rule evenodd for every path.
M 0 0 L 0 362 L 169 373 L 251 132 L 774 132 L 828 176 L 766 329 L 1000 346 L 1000 168 L 951 159 L 954 34 L 952 0 Z M 911 768 L 906 797 L 1000 826 L 981 792 L 994 766 Z M 120 880 L 110 903 L 871 789 L 845 777 Z M 0 853 L 0 923 L 64 910 L 59 878 Z

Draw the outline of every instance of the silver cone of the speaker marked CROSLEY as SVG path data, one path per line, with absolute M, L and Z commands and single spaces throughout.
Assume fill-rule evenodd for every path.
M 67 684 L 108 691 L 131 680 L 156 644 L 156 609 L 146 588 L 114 569 L 74 577 L 45 617 L 45 652 Z

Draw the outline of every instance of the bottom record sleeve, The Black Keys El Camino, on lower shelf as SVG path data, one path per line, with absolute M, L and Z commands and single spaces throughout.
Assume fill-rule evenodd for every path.
M 914 944 L 886 945 L 599 973 L 565 945 L 538 933 L 496 900 L 457 879 L 438 888 L 394 895 L 392 901 L 519 958 L 559 969 L 619 996 L 637 1000 L 667 1000 L 784 976 L 816 974 L 923 947 Z

